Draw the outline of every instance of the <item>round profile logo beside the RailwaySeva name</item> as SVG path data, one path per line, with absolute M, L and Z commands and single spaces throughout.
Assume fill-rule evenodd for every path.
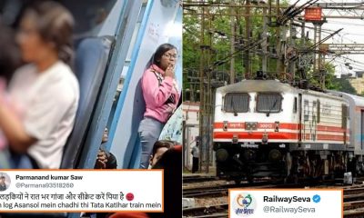
M 250 193 L 238 193 L 232 203 L 233 213 L 238 216 L 248 216 L 254 213 L 257 203 Z

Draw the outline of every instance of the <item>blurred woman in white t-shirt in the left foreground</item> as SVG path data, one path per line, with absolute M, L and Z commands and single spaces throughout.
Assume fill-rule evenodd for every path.
M 41 2 L 25 9 L 16 35 L 24 66 L 9 84 L 17 113 L 0 96 L 0 129 L 12 168 L 59 168 L 78 106 L 71 69 L 74 19 L 63 5 Z

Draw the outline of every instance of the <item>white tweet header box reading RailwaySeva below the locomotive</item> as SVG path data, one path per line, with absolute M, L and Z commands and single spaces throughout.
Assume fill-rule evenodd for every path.
M 342 217 L 339 189 L 230 189 L 230 218 Z

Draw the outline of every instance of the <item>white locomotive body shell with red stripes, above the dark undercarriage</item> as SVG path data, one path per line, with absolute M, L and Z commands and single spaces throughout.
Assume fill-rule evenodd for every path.
M 243 103 L 248 104 L 248 111 L 234 114 L 225 110 L 226 104 L 231 104 L 227 102 L 229 94 L 235 94 L 234 100 L 237 95 L 248 94 L 249 101 Z M 272 104 L 258 105 L 262 94 L 271 96 L 273 99 L 268 101 L 272 104 L 275 97 L 281 98 L 269 114 L 267 108 Z M 217 89 L 214 142 L 231 143 L 235 135 L 238 144 L 262 143 L 266 134 L 268 143 L 300 144 L 305 149 L 345 149 L 349 144 L 349 117 L 343 116 L 344 106 L 349 104 L 333 94 L 300 90 L 278 81 L 250 80 L 228 85 Z M 343 124 L 344 120 L 347 124 Z M 248 123 L 257 124 L 257 128 L 247 128 Z

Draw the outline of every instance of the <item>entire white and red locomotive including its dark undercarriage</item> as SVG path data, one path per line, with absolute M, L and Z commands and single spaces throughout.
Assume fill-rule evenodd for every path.
M 238 180 L 306 171 L 319 176 L 348 168 L 355 147 L 349 110 L 349 99 L 339 94 L 276 80 L 220 87 L 213 133 L 217 175 Z

